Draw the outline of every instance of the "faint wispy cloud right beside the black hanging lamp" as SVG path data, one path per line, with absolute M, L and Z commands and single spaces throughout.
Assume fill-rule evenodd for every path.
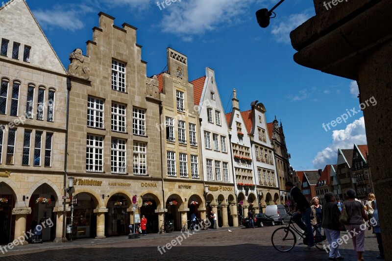
M 312 14 L 310 11 L 305 11 L 299 14 L 290 15 L 286 21 L 280 22 L 278 25 L 273 23 L 276 23 L 276 20 L 278 19 L 272 19 L 271 24 L 273 25 L 271 33 L 274 35 L 275 41 L 278 43 L 290 44 L 290 32 L 311 17 Z

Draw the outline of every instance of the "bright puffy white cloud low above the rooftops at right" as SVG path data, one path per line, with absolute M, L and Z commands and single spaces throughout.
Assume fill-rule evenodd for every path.
M 338 148 L 352 149 L 356 144 L 367 144 L 364 117 L 354 120 L 344 130 L 332 132 L 332 144 L 319 151 L 313 160 L 315 168 L 324 168 L 328 164 L 336 164 Z

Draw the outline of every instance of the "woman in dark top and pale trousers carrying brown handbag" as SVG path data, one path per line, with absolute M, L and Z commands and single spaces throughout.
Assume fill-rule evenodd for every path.
M 357 251 L 357 260 L 364 261 L 362 255 L 365 252 L 365 231 L 361 229 L 361 226 L 365 226 L 364 219 L 368 221 L 368 215 L 365 214 L 364 205 L 355 200 L 355 190 L 347 190 L 346 195 L 348 200 L 343 202 L 342 210 L 342 215 L 345 212 L 348 217 L 345 228 L 350 234 L 355 251 Z

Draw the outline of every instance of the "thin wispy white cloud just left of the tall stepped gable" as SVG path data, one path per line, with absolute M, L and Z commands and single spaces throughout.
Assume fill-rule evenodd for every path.
M 56 5 L 53 9 L 33 10 L 35 18 L 43 27 L 61 27 L 66 30 L 75 31 L 84 27 L 84 23 L 79 19 L 84 18 L 84 14 L 93 12 L 94 9 L 87 5 Z

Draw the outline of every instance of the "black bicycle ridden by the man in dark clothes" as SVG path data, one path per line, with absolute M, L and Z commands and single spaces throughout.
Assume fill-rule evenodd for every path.
M 293 213 L 290 214 L 290 221 L 289 224 L 287 224 L 285 227 L 280 227 L 276 229 L 271 236 L 271 242 L 273 247 L 280 251 L 280 252 L 288 252 L 292 250 L 296 244 L 297 238 L 294 234 L 297 233 L 299 235 L 298 239 L 303 238 L 303 242 L 306 243 L 306 240 L 308 239 L 305 237 L 304 232 L 298 230 L 294 226 L 293 222 Z M 317 236 L 317 229 L 321 229 L 321 236 Z M 324 234 L 324 230 L 321 228 L 320 224 L 317 224 L 313 226 L 313 237 L 315 240 L 315 246 L 318 249 L 323 250 L 324 245 L 328 245 L 327 237 Z

